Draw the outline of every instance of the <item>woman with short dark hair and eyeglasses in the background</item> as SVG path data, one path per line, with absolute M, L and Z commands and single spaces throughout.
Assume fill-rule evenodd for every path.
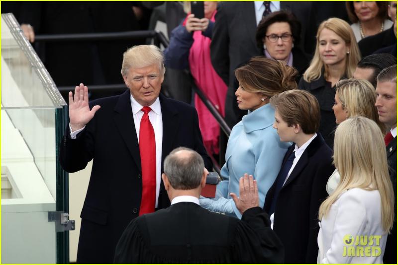
M 256 33 L 261 55 L 295 67 L 298 70 L 297 82 L 309 63 L 307 56 L 298 48 L 300 33 L 300 21 L 287 11 L 272 12 L 264 17 Z

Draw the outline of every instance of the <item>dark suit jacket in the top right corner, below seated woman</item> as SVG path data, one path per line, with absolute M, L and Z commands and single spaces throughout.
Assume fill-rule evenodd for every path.
M 358 42 L 362 58 L 373 54 L 376 50 L 397 44 L 397 37 L 394 34 L 394 26 L 376 35 L 366 37 Z

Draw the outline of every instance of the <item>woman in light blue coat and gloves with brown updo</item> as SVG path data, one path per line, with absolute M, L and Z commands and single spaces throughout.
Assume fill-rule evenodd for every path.
M 239 109 L 248 110 L 229 136 L 225 165 L 221 169 L 223 181 L 217 186 L 216 198 L 200 198 L 200 205 L 211 211 L 223 212 L 238 218 L 238 211 L 230 193 L 239 195 L 239 179 L 245 173 L 257 180 L 259 205 L 274 183 L 282 159 L 291 143 L 281 142 L 273 130 L 274 108 L 270 97 L 286 90 L 297 89 L 298 71 L 281 61 L 259 56 L 235 70 L 239 87 L 235 92 Z

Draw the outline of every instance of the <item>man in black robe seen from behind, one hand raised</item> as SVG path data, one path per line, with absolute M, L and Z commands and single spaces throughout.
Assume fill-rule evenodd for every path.
M 134 219 L 116 247 L 114 263 L 283 263 L 283 247 L 258 207 L 257 183 L 245 174 L 239 198 L 232 195 L 242 220 L 199 206 L 207 170 L 189 148 L 165 159 L 163 183 L 172 205 Z

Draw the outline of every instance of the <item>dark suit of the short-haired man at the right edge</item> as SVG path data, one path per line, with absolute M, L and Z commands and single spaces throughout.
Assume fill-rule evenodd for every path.
M 389 171 L 394 189 L 394 226 L 391 234 L 387 237 L 386 250 L 384 252 L 383 263 L 397 264 L 397 137 L 386 147 Z

